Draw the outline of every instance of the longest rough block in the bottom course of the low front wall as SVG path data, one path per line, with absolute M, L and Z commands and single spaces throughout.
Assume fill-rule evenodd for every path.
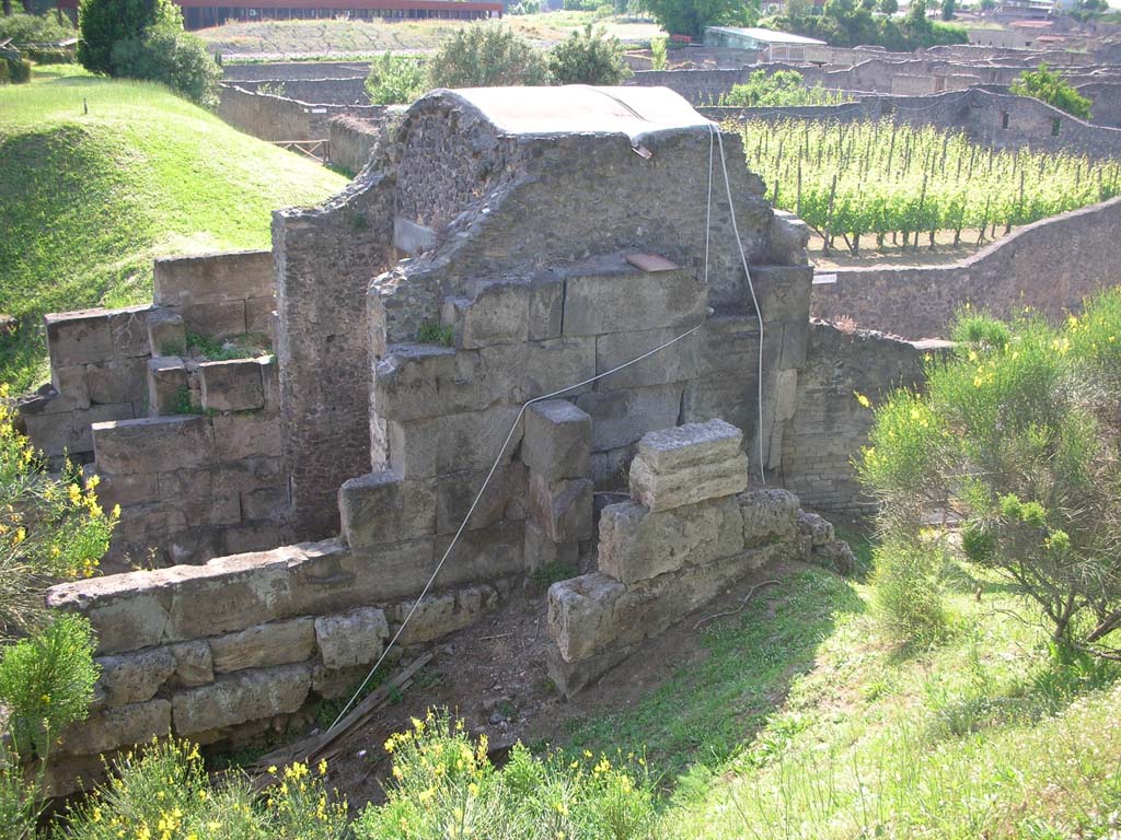
M 193 732 L 297 711 L 312 688 L 307 664 L 239 671 L 210 685 L 172 697 L 172 725 L 183 737 Z

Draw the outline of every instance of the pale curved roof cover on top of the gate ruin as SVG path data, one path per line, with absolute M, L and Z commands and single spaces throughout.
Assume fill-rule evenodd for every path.
M 464 100 L 503 134 L 626 134 L 632 142 L 712 124 L 668 87 L 466 87 L 442 92 Z

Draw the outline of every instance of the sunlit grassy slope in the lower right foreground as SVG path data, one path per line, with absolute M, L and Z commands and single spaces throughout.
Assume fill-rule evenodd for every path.
M 981 600 L 974 592 L 982 589 Z M 678 775 L 659 838 L 1113 837 L 1117 669 L 1058 665 L 1034 613 L 966 569 L 951 637 L 879 638 L 870 590 L 816 569 L 702 631 L 711 655 L 572 746 Z

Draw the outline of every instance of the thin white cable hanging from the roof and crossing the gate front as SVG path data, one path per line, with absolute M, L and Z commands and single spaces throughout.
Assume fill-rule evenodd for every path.
M 713 134 L 715 136 L 716 142 L 720 146 L 720 162 L 721 162 L 722 169 L 724 170 L 724 188 L 725 188 L 725 190 L 728 193 L 729 212 L 732 214 L 732 230 L 735 232 L 735 241 L 736 241 L 736 244 L 738 244 L 738 246 L 740 249 L 740 260 L 743 262 L 743 270 L 748 271 L 748 258 L 747 258 L 747 255 L 743 252 L 743 243 L 740 241 L 740 228 L 739 228 L 739 226 L 735 223 L 735 209 L 734 209 L 734 205 L 732 204 L 732 186 L 731 186 L 731 181 L 729 180 L 729 177 L 728 177 L 728 166 L 726 166 L 726 164 L 724 161 L 724 142 L 720 138 L 720 132 L 716 130 L 715 123 L 710 123 L 710 138 L 708 138 L 708 205 L 707 205 L 708 209 L 707 209 L 707 217 L 706 217 L 706 221 L 705 221 L 705 250 L 704 250 L 704 277 L 705 277 L 705 283 L 706 283 L 706 286 L 707 286 L 707 280 L 708 280 L 708 241 L 710 241 L 710 230 L 711 230 L 711 226 L 712 226 L 712 224 L 711 224 L 712 223 L 712 181 L 713 181 L 712 170 L 713 170 L 713 162 L 714 162 L 713 161 L 713 157 L 714 157 L 714 155 L 713 155 L 713 151 L 714 151 L 714 149 L 713 149 Z M 759 301 L 756 298 L 756 290 L 754 290 L 754 286 L 751 282 L 751 273 L 750 272 L 748 272 L 748 288 L 751 290 L 751 300 L 754 302 L 754 306 L 756 306 L 756 315 L 759 316 L 759 458 L 760 458 L 760 460 L 759 460 L 759 477 L 760 477 L 760 479 L 763 479 L 763 464 L 762 464 L 763 319 L 762 319 L 762 315 L 759 311 Z M 389 644 L 387 644 L 382 648 L 381 655 L 378 657 L 378 661 L 373 663 L 373 668 L 370 669 L 370 672 L 365 675 L 365 679 L 362 680 L 362 684 L 358 687 L 358 690 L 354 692 L 354 694 L 351 697 L 351 699 L 346 702 L 346 706 L 344 706 L 343 709 L 342 709 L 342 711 L 339 712 L 339 717 L 336 717 L 334 719 L 334 721 L 331 724 L 331 726 L 328 726 L 326 728 L 327 732 L 330 732 L 332 729 L 334 729 L 336 726 L 339 726 L 339 721 L 341 721 L 346 716 L 346 713 L 351 710 L 351 708 L 354 706 L 354 702 L 358 700 L 358 698 L 361 696 L 361 693 L 365 690 L 365 687 L 370 683 L 370 680 L 373 679 L 373 675 L 378 672 L 378 669 L 381 668 L 381 663 L 386 661 L 386 656 L 389 655 L 389 652 L 392 650 L 393 645 L 397 643 L 397 640 L 400 638 L 400 635 L 405 631 L 405 627 L 408 625 L 409 619 L 413 618 L 413 615 L 414 615 L 414 613 L 416 613 L 417 607 L 420 606 L 420 601 L 424 600 L 424 597 L 428 594 L 428 590 L 432 589 L 433 584 L 436 582 L 436 577 L 439 575 L 441 569 L 444 568 L 444 563 L 447 562 L 447 558 L 451 556 L 452 550 L 455 548 L 456 543 L 460 541 L 460 538 L 463 535 L 463 531 L 466 529 L 467 522 L 471 521 L 471 516 L 474 514 L 475 507 L 479 506 L 479 501 L 483 497 L 483 493 L 487 492 L 487 487 L 490 486 L 490 482 L 494 477 L 494 473 L 498 470 L 499 465 L 502 463 L 502 456 L 506 455 L 506 449 L 507 449 L 508 446 L 510 446 L 510 441 L 513 439 L 513 435 L 518 430 L 518 423 L 521 422 L 521 418 L 525 417 L 525 414 L 526 414 L 526 409 L 528 409 L 535 402 L 541 402 L 544 400 L 552 400 L 555 396 L 559 396 L 560 394 L 567 393 L 569 391 L 574 391 L 577 388 L 583 388 L 584 385 L 590 385 L 591 383 L 595 382 L 596 380 L 602 380 L 604 376 L 610 376 L 611 374 L 618 373 L 619 371 L 622 371 L 622 370 L 624 370 L 627 367 L 630 367 L 633 364 L 638 364 L 642 360 L 649 358 L 650 356 L 655 355 L 656 353 L 660 353 L 661 351 L 666 349 L 666 347 L 669 347 L 669 346 L 671 346 L 674 344 L 677 344 L 683 338 L 686 338 L 689 335 L 692 335 L 693 333 L 696 333 L 704 325 L 705 325 L 705 321 L 704 321 L 704 319 L 702 319 L 701 323 L 697 324 L 695 327 L 691 327 L 689 329 L 685 330 L 684 333 L 682 333 L 676 338 L 670 338 L 668 342 L 666 342 L 664 344 L 659 344 L 654 349 L 647 351 L 642 355 L 636 356 L 634 358 L 630 360 L 629 362 L 623 362 L 618 367 L 612 367 L 610 371 L 604 371 L 603 373 L 599 373 L 599 374 L 596 374 L 594 376 L 591 376 L 591 377 L 584 380 L 583 382 L 577 382 L 577 383 L 575 383 L 573 385 L 568 385 L 567 388 L 562 388 L 562 389 L 559 389 L 557 391 L 553 391 L 552 393 L 543 394 L 541 396 L 535 396 L 532 400 L 527 400 L 525 403 L 522 403 L 521 408 L 518 410 L 518 417 L 515 418 L 513 423 L 510 426 L 510 431 L 507 433 L 506 440 L 502 441 L 502 446 L 501 446 L 501 448 L 498 451 L 498 456 L 494 458 L 494 463 L 491 465 L 490 472 L 487 474 L 487 478 L 483 479 L 482 486 L 479 488 L 479 493 L 475 494 L 475 498 L 471 503 L 471 507 L 467 508 L 467 514 L 463 517 L 463 522 L 460 523 L 460 528 L 456 530 L 455 535 L 452 538 L 452 541 L 448 543 L 447 548 L 444 550 L 444 556 L 441 557 L 439 562 L 436 563 L 436 568 L 433 569 L 432 575 L 428 577 L 428 582 L 426 582 L 424 585 L 424 589 L 420 590 L 420 594 L 417 596 L 416 600 L 413 601 L 413 606 L 409 607 L 409 612 L 406 613 L 405 619 L 401 622 L 401 625 L 397 628 L 397 632 L 393 634 L 393 637 L 389 640 Z M 765 479 L 763 479 L 763 483 L 766 484 Z

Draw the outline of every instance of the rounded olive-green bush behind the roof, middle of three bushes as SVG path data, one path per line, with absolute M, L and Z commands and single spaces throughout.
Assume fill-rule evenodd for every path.
M 432 87 L 548 84 L 545 57 L 508 26 L 481 21 L 458 29 L 429 59 Z

